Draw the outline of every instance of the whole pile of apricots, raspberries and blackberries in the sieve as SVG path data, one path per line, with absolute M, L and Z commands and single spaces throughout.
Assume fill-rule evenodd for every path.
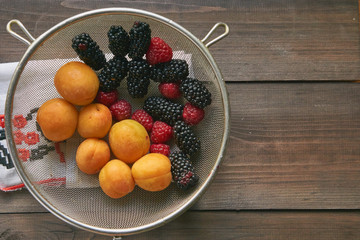
M 76 152 L 78 168 L 99 173 L 112 198 L 135 185 L 147 191 L 161 191 L 172 180 L 180 189 L 195 186 L 199 177 L 190 158 L 201 143 L 192 126 L 203 120 L 210 91 L 189 77 L 188 63 L 174 59 L 163 39 L 151 36 L 149 24 L 136 21 L 129 32 L 111 26 L 107 36 L 113 54 L 108 61 L 89 34 L 72 39 L 82 62 L 57 71 L 54 84 L 62 98 L 45 102 L 37 113 L 44 136 L 63 141 L 77 131 L 85 139 Z M 144 99 L 141 109 L 133 111 L 118 91 L 124 79 L 131 98 Z M 147 96 L 150 84 L 158 86 L 159 96 Z M 172 140 L 177 150 L 171 150 Z M 110 160 L 111 153 L 116 159 Z

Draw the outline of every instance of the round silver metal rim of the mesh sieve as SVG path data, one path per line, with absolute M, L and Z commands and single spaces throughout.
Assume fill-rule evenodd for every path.
M 12 113 L 12 102 L 14 98 L 15 89 L 17 86 L 17 83 L 19 81 L 19 78 L 22 74 L 22 71 L 24 70 L 24 67 L 26 66 L 27 62 L 32 56 L 32 53 L 34 53 L 39 47 L 41 47 L 41 44 L 46 41 L 49 36 L 52 36 L 55 32 L 61 30 L 63 27 L 75 23 L 76 21 L 79 21 L 81 19 L 84 19 L 86 17 L 95 17 L 96 15 L 100 14 L 131 14 L 131 15 L 139 15 L 141 17 L 148 17 L 153 20 L 159 21 L 163 24 L 168 25 L 172 29 L 179 31 L 180 33 L 184 34 L 189 41 L 191 41 L 196 47 L 200 49 L 201 52 L 203 52 L 204 56 L 207 58 L 209 63 L 211 64 L 215 74 L 216 78 L 218 80 L 220 90 L 221 90 L 221 96 L 222 96 L 222 104 L 224 107 L 224 132 L 223 132 L 223 138 L 222 138 L 222 144 L 220 147 L 220 151 L 218 154 L 218 158 L 209 174 L 209 176 L 204 181 L 203 185 L 196 191 L 193 197 L 189 199 L 185 204 L 179 206 L 179 208 L 174 211 L 173 213 L 167 215 L 166 217 L 163 217 L 157 221 L 154 221 L 150 224 L 142 225 L 139 227 L 133 227 L 133 228 L 122 228 L 122 229 L 109 229 L 109 228 L 102 228 L 102 227 L 95 227 L 92 225 L 84 224 L 82 222 L 79 222 L 65 214 L 63 214 L 61 211 L 56 209 L 52 206 L 52 204 L 42 198 L 38 191 L 35 189 L 35 187 L 31 184 L 31 182 L 28 180 L 27 177 L 25 177 L 25 172 L 23 170 L 23 167 L 20 163 L 20 160 L 17 157 L 16 147 L 14 143 L 14 139 L 12 136 L 12 124 L 11 124 L 11 113 Z M 58 218 L 62 219 L 63 221 L 76 226 L 78 228 L 92 231 L 100 234 L 105 235 L 111 235 L 111 236 L 123 236 L 123 235 L 130 235 L 135 233 L 140 233 L 144 231 L 148 231 L 151 229 L 154 229 L 156 227 L 160 227 L 163 224 L 173 220 L 174 218 L 180 216 L 182 213 L 184 213 L 186 210 L 188 210 L 195 202 L 196 200 L 202 196 L 202 194 L 206 191 L 206 189 L 209 187 L 210 183 L 214 179 L 214 176 L 217 172 L 217 169 L 219 167 L 219 164 L 223 158 L 224 151 L 227 145 L 228 136 L 229 136 L 229 129 L 230 129 L 230 109 L 229 109 L 229 100 L 227 95 L 226 86 L 224 83 L 224 80 L 222 78 L 222 74 L 215 63 L 215 60 L 213 59 L 211 53 L 209 52 L 208 48 L 205 47 L 205 45 L 197 38 L 195 37 L 191 32 L 180 26 L 179 24 L 175 23 L 174 21 L 163 17 L 161 15 L 158 15 L 153 12 L 141 10 L 141 9 L 134 9 L 134 8 L 102 8 L 102 9 L 96 9 L 96 10 L 90 10 L 86 11 L 77 15 L 74 15 L 72 17 L 69 17 L 62 22 L 56 24 L 43 34 L 41 34 L 38 38 L 35 39 L 34 42 L 31 43 L 31 45 L 26 50 L 24 56 L 20 60 L 19 64 L 17 65 L 14 75 L 11 79 L 11 82 L 9 84 L 9 89 L 7 92 L 6 102 L 5 102 L 5 134 L 6 134 L 6 140 L 8 146 L 10 146 L 10 154 L 13 159 L 16 171 L 18 172 L 21 180 L 29 190 L 29 192 L 33 195 L 37 201 L 41 203 L 47 210 L 49 210 L 51 213 L 53 213 Z

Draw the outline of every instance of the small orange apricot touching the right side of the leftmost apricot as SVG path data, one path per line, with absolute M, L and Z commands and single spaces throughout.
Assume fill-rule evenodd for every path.
M 103 138 L 111 125 L 111 112 L 105 105 L 92 103 L 80 109 L 77 131 L 83 138 Z

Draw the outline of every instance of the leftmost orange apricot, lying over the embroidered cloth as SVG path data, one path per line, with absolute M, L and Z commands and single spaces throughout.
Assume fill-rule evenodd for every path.
M 36 121 L 47 139 L 59 142 L 70 138 L 75 133 L 78 111 L 68 101 L 53 98 L 40 106 Z

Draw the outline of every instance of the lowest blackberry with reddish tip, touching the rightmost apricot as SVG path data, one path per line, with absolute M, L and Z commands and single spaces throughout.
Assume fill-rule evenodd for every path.
M 199 182 L 199 176 L 195 173 L 188 156 L 177 151 L 171 153 L 169 159 L 171 161 L 171 174 L 177 187 L 186 190 Z

